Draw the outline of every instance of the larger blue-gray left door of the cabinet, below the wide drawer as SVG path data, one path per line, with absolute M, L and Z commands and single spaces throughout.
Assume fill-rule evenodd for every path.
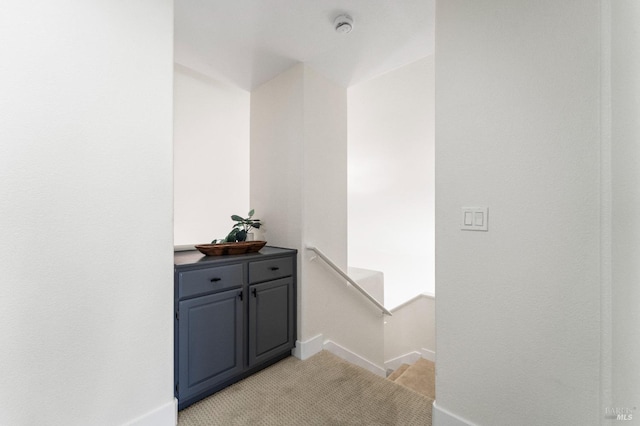
M 242 290 L 180 302 L 178 400 L 243 370 Z

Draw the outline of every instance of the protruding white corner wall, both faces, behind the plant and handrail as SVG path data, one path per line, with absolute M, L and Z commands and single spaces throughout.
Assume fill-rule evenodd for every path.
M 251 205 L 269 244 L 300 251 L 298 340 L 322 334 L 382 365 L 380 313 L 304 249 L 346 270 L 346 108 L 346 89 L 302 64 L 252 92 Z

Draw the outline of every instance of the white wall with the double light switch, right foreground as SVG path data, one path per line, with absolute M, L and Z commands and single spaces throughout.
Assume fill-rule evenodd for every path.
M 436 7 L 436 407 L 600 424 L 600 2 Z

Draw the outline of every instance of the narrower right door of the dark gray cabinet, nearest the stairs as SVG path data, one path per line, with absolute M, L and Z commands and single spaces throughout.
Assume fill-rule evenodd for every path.
M 293 278 L 249 287 L 249 364 L 293 347 Z

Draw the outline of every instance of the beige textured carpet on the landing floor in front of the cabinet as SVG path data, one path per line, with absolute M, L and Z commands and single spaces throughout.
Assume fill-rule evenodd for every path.
M 179 426 L 431 425 L 433 400 L 322 351 L 289 357 L 178 414 Z

